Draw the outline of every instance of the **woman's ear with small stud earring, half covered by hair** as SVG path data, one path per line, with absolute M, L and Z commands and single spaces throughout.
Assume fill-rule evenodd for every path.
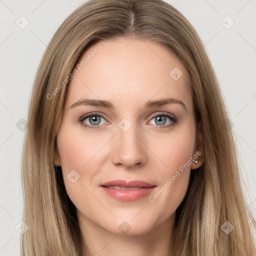
M 201 123 L 198 123 L 197 128 L 197 135 L 195 138 L 195 150 L 193 153 L 193 161 L 190 165 L 191 169 L 197 169 L 200 167 L 204 162 L 204 140 L 203 140 L 203 132 L 202 132 L 202 126 Z M 197 161 L 197 162 L 195 162 Z

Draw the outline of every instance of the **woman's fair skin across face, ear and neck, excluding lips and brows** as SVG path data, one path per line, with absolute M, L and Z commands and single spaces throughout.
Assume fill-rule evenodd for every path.
M 202 141 L 195 137 L 187 72 L 166 48 L 134 38 L 97 42 L 78 62 L 95 48 L 99 52 L 77 69 L 68 84 L 55 165 L 62 167 L 65 188 L 76 207 L 89 255 L 167 256 L 175 211 L 187 190 L 190 169 L 203 163 Z M 177 80 L 169 75 L 174 67 L 182 71 Z M 82 98 L 110 101 L 113 108 L 82 104 L 70 107 Z M 163 98 L 179 99 L 185 107 L 180 103 L 144 107 L 148 100 Z M 89 117 L 82 122 L 96 129 L 78 121 L 91 112 L 103 115 L 94 114 L 100 123 Z M 162 112 L 171 114 L 177 122 Z M 165 119 L 157 121 L 158 116 Z M 126 131 L 118 126 L 123 118 L 131 124 Z M 143 180 L 156 185 L 153 195 L 198 151 L 198 162 L 192 161 L 184 168 L 153 202 L 149 195 L 120 201 L 99 187 L 115 179 Z M 67 177 L 72 169 L 80 175 L 75 182 Z M 128 232 L 118 228 L 121 223 L 129 226 Z

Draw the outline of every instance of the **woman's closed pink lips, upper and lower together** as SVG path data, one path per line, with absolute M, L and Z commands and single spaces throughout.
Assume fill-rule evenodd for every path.
M 108 186 L 123 186 L 126 187 L 127 189 L 122 190 L 117 188 L 110 188 Z M 156 187 L 156 185 L 150 184 L 142 180 L 127 181 L 123 179 L 118 179 L 103 183 L 100 185 L 100 187 L 107 195 L 115 199 L 118 199 L 120 201 L 134 201 L 151 193 L 152 190 Z M 137 188 L 134 189 L 134 187 Z M 133 189 L 129 190 L 129 188 Z

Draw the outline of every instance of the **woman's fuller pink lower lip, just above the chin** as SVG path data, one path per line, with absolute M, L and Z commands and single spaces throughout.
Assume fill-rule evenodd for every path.
M 121 190 L 115 188 L 108 188 L 105 186 L 101 186 L 105 193 L 115 199 L 120 201 L 135 201 L 139 198 L 149 194 L 155 188 L 153 187 L 143 187 L 134 190 Z

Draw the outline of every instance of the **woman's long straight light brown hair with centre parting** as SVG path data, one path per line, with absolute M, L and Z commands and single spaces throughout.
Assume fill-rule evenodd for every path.
M 256 223 L 245 205 L 234 135 L 216 76 L 195 29 L 162 0 L 89 0 L 63 21 L 46 47 L 33 83 L 22 151 L 23 221 L 29 228 L 21 235 L 21 255 L 81 254 L 75 206 L 61 166 L 54 165 L 65 92 L 88 47 L 131 37 L 158 43 L 182 61 L 203 138 L 204 163 L 191 171 L 176 210 L 170 241 L 174 255 L 255 255 Z M 234 226 L 229 234 L 221 230 L 225 221 Z

